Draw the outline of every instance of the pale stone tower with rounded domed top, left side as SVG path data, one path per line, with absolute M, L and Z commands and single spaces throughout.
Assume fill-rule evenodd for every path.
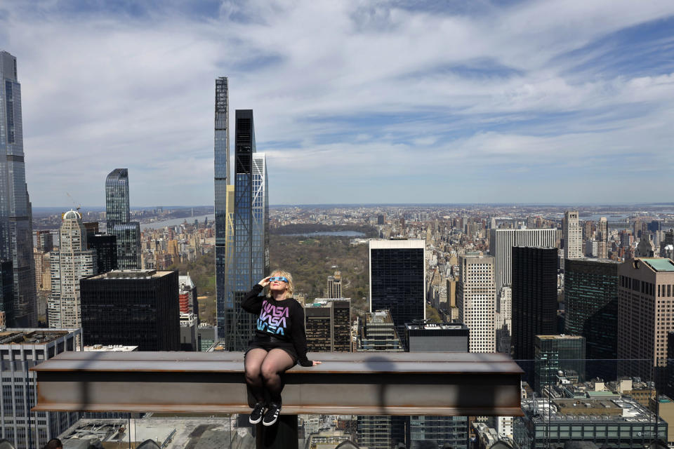
M 59 250 L 50 253 L 51 296 L 47 303 L 50 328 L 81 327 L 79 280 L 96 274 L 96 252 L 86 249 L 86 232 L 79 212 L 63 214 Z

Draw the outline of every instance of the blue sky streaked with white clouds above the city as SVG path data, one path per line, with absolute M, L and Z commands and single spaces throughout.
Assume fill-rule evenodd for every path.
M 34 206 L 212 204 L 218 76 L 271 204 L 674 201 L 670 0 L 3 0 L 0 49 Z

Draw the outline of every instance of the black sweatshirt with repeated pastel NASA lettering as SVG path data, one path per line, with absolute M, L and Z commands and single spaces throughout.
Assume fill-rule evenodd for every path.
M 282 301 L 260 296 L 263 286 L 256 283 L 244 297 L 241 307 L 259 315 L 255 333 L 261 337 L 275 337 L 295 347 L 301 366 L 313 366 L 307 358 L 307 335 L 304 329 L 304 309 L 292 297 Z

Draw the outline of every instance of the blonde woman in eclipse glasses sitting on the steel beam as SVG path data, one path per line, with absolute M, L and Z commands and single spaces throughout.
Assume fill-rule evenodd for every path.
M 267 295 L 260 296 L 263 288 Z M 246 383 L 251 387 L 255 406 L 249 421 L 262 421 L 271 426 L 281 414 L 281 375 L 300 363 L 315 366 L 321 362 L 307 358 L 307 336 L 304 330 L 304 309 L 293 299 L 293 276 L 275 270 L 272 276 L 253 286 L 241 305 L 245 311 L 258 314 L 253 341 L 246 351 Z M 270 401 L 265 401 L 265 391 Z M 266 408 L 266 413 L 265 413 Z M 264 415 L 264 417 L 263 417 Z

